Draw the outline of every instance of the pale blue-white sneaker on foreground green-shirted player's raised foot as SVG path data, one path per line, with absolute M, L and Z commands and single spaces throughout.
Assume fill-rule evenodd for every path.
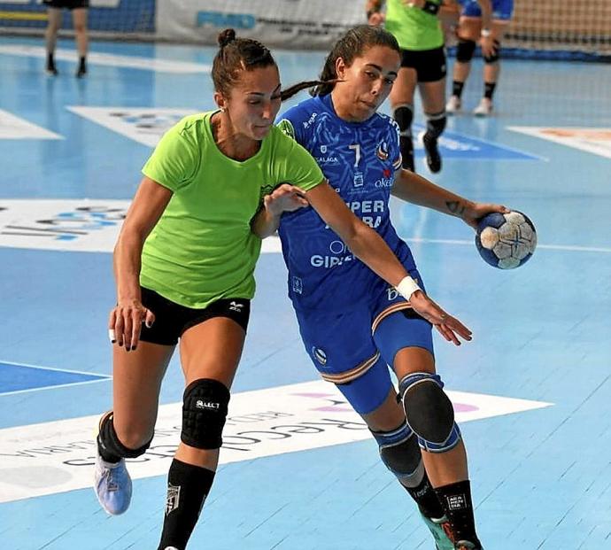
M 132 500 L 132 479 L 125 466 L 125 459 L 106 462 L 96 451 L 94 491 L 104 510 L 111 515 L 120 515 Z

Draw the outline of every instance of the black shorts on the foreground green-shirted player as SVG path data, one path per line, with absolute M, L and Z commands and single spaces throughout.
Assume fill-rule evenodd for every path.
M 155 314 L 151 329 L 143 323 L 140 339 L 151 344 L 176 345 L 182 333 L 214 317 L 227 317 L 236 321 L 244 332 L 251 316 L 251 300 L 246 298 L 223 298 L 213 302 L 205 309 L 180 306 L 157 292 L 142 289 L 143 306 Z

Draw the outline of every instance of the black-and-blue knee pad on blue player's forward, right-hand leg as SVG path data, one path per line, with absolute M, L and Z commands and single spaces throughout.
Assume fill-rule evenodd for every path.
M 426 372 L 407 375 L 399 383 L 407 425 L 420 446 L 432 453 L 449 451 L 460 441 L 452 402 L 443 387 L 440 376 Z

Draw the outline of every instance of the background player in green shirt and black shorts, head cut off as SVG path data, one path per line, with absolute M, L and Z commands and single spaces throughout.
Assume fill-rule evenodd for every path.
M 386 12 L 382 12 L 387 4 Z M 401 48 L 401 68 L 391 91 L 392 116 L 400 130 L 403 167 L 414 172 L 414 92 L 420 90 L 427 129 L 422 135 L 429 170 L 441 170 L 437 140 L 445 129 L 444 33 L 437 18 L 442 0 L 367 0 L 370 25 L 384 25 Z

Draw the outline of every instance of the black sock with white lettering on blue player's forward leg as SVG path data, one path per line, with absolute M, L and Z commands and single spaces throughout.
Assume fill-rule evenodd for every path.
M 481 548 L 481 543 L 476 535 L 476 522 L 473 517 L 473 503 L 471 502 L 471 484 L 469 484 L 468 479 L 437 487 L 435 492 L 452 526 L 456 542 L 467 540 L 476 545 L 476 548 Z

